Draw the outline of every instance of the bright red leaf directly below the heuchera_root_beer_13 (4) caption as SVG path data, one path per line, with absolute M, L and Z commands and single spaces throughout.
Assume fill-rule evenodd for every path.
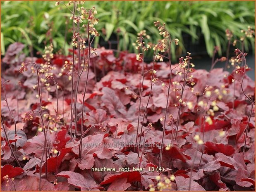
M 121 178 L 127 178 L 127 183 L 132 183 L 134 181 L 141 181 L 141 174 L 139 171 L 121 172 L 115 175 L 109 174 L 104 178 L 104 181 L 101 182 L 100 185 L 113 183 L 115 180 L 119 180 Z

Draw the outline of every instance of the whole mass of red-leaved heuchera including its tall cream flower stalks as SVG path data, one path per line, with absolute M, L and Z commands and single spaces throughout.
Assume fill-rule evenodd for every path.
M 24 45 L 14 43 L 3 58 L 1 189 L 254 191 L 255 85 L 247 53 L 215 59 L 215 47 L 210 71 L 194 69 L 189 52 L 172 63 L 171 43 L 179 40 L 156 21 L 161 40 L 148 42 L 143 30 L 139 53 L 115 55 L 92 46 L 95 7 L 68 4 L 68 55 L 49 45 L 41 58 L 24 57 Z M 254 34 L 244 32 L 242 45 Z M 226 34 L 229 50 L 233 36 Z M 232 72 L 215 69 L 217 62 Z

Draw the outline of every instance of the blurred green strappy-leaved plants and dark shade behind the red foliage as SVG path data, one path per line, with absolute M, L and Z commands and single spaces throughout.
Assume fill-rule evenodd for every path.
M 14 42 L 23 43 L 25 53 L 30 56 L 39 57 L 37 52 L 50 43 L 55 51 L 67 54 L 72 21 L 65 5 L 55 6 L 53 1 L 1 1 L 1 55 Z M 172 59 L 177 61 L 177 57 L 189 51 L 202 63 L 198 67 L 206 69 L 211 63 L 207 66 L 204 63 L 211 62 L 215 46 L 219 47 L 216 57 L 226 56 L 227 29 L 232 32 L 230 54 L 233 55 L 233 41 L 245 36 L 241 30 L 246 31 L 248 26 L 255 30 L 254 1 L 85 1 L 83 6 L 95 6 L 98 11 L 100 21 L 96 29 L 100 37 L 95 39 L 95 47 L 136 52 L 133 43 L 139 31 L 145 29 L 152 43 L 160 39 L 153 25 L 159 20 L 166 23 L 172 39 L 179 39 L 179 46 L 173 45 Z M 241 48 L 239 41 L 236 47 Z M 244 49 L 251 53 L 250 62 L 254 65 L 254 36 L 244 38 Z M 148 61 L 150 55 L 150 52 L 146 55 Z

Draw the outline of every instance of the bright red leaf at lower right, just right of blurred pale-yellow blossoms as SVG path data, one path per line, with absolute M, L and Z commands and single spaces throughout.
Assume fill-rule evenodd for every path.
M 224 144 L 215 144 L 213 142 L 207 141 L 205 144 L 205 153 L 209 155 L 214 155 L 216 153 L 223 153 L 227 156 L 234 154 L 234 147 L 231 145 L 224 145 Z

